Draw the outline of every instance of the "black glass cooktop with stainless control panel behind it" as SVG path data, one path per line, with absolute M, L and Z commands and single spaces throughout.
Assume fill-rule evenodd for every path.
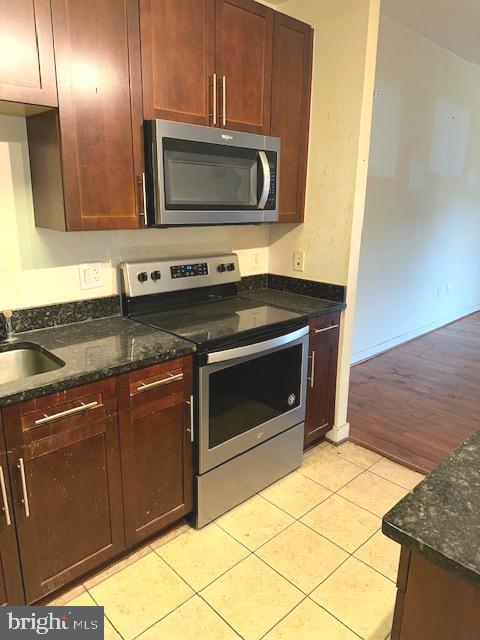
M 306 316 L 238 295 L 235 254 L 121 265 L 124 313 L 194 342 L 240 344 L 307 324 Z

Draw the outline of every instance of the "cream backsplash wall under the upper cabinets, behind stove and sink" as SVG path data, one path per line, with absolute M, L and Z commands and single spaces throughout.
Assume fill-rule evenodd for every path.
M 268 269 L 268 226 L 63 233 L 33 220 L 25 120 L 0 116 L 0 310 L 110 295 L 125 259 L 237 251 L 242 274 Z M 104 263 L 102 289 L 81 290 L 78 264 Z

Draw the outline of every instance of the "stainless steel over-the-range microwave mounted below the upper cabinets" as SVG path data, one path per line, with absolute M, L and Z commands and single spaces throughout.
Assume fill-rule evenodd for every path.
M 167 120 L 144 131 L 149 226 L 278 220 L 279 138 Z

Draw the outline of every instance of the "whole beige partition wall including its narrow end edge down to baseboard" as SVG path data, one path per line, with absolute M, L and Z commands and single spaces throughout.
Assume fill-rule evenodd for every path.
M 270 271 L 347 285 L 335 424 L 349 433 L 350 356 L 367 185 L 380 0 L 290 0 L 282 12 L 315 28 L 305 223 L 272 226 Z M 306 253 L 293 271 L 293 251 Z

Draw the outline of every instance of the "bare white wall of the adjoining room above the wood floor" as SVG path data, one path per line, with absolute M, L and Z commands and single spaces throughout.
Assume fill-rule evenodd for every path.
M 480 308 L 480 67 L 382 16 L 376 90 L 354 362 Z

